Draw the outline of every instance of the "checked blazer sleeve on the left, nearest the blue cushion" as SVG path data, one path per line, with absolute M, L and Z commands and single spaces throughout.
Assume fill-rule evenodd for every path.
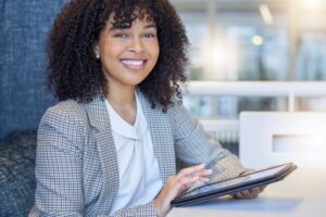
M 79 119 L 75 112 L 62 106 L 51 107 L 43 115 L 37 141 L 35 207 L 29 217 L 86 215 L 82 165 L 87 129 Z M 128 216 L 156 217 L 154 200 L 134 208 L 120 209 L 112 215 Z

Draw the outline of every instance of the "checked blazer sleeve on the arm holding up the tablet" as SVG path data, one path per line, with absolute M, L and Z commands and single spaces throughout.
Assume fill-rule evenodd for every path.
M 170 112 L 176 156 L 185 166 L 204 163 L 206 168 L 213 169 L 211 181 L 236 177 L 247 170 L 237 156 L 204 132 L 181 103 L 175 102 Z

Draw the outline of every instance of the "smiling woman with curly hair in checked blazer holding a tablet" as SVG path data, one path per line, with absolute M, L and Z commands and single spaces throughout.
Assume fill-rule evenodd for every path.
M 39 125 L 29 216 L 165 216 L 195 183 L 246 171 L 181 105 L 187 47 L 166 0 L 67 3 L 48 42 L 61 102 Z

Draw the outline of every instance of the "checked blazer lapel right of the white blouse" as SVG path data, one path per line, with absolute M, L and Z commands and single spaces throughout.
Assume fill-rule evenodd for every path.
M 167 114 L 162 112 L 162 107 L 160 105 L 156 105 L 155 108 L 152 108 L 151 103 L 139 90 L 137 93 L 142 105 L 148 127 L 150 129 L 153 150 L 158 158 L 161 178 L 163 183 L 165 183 L 170 176 L 176 174 L 172 127 L 168 122 Z

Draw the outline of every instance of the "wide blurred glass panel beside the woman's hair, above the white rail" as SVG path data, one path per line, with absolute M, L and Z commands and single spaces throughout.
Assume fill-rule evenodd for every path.
M 205 10 L 210 8 L 206 2 L 197 11 L 179 11 L 191 42 L 191 80 L 287 79 L 289 39 L 284 10 L 275 9 L 274 25 L 266 25 L 258 3 L 211 7 L 216 9 Z

